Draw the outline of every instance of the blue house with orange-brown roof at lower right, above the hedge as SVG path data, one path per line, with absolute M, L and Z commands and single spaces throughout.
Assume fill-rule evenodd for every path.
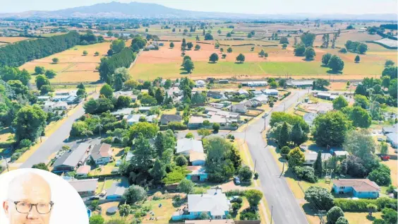
M 352 194 L 359 199 L 377 199 L 380 187 L 369 179 L 335 179 L 334 194 Z

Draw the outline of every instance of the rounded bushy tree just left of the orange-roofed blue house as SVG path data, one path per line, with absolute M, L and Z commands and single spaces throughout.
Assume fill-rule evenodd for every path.
M 334 196 L 330 194 L 330 191 L 318 186 L 309 187 L 306 190 L 304 199 L 317 204 L 322 210 L 329 210 L 334 204 Z

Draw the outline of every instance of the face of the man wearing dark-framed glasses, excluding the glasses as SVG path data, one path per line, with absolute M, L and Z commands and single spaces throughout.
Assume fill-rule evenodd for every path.
M 27 204 L 48 204 L 51 201 L 51 191 L 47 182 L 41 177 L 32 177 L 30 182 L 12 184 L 13 189 L 8 191 L 8 201 L 4 201 L 3 207 L 10 224 L 49 224 L 51 212 L 40 214 L 36 206 L 28 213 L 20 213 L 16 209 L 14 201 L 23 201 Z

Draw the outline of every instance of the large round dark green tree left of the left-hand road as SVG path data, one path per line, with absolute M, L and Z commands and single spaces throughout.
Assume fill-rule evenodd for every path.
M 20 108 L 13 120 L 16 141 L 29 139 L 35 142 L 44 133 L 47 114 L 38 105 Z

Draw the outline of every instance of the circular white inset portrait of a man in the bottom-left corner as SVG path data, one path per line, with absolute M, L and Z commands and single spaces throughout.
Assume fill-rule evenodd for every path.
M 76 189 L 52 172 L 19 169 L 0 175 L 1 224 L 88 224 Z

